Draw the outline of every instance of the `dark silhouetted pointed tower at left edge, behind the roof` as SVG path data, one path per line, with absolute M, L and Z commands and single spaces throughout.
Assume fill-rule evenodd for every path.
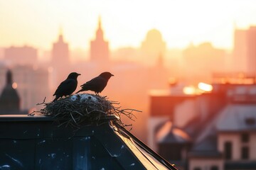
M 0 115 L 27 114 L 21 111 L 21 99 L 16 91 L 16 83 L 13 81 L 11 70 L 6 72 L 6 85 L 0 96 Z

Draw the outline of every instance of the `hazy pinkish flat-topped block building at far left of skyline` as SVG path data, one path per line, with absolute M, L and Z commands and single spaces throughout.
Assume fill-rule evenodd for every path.
M 8 47 L 4 52 L 5 60 L 12 64 L 36 64 L 37 63 L 37 50 L 36 48 L 23 46 L 23 47 Z

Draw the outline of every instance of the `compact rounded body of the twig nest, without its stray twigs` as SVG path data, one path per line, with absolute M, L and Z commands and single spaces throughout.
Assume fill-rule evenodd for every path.
M 51 115 L 58 121 L 67 120 L 73 126 L 82 122 L 95 123 L 102 116 L 111 114 L 113 106 L 106 97 L 93 94 L 75 94 L 58 101 L 45 103 L 41 114 Z

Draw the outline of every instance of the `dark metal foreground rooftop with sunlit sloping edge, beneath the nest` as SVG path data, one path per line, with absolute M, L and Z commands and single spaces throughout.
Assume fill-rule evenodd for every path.
M 79 129 L 47 116 L 0 116 L 0 169 L 175 169 L 113 116 Z

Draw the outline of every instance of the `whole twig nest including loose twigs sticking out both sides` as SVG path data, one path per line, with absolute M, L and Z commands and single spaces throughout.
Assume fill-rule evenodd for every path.
M 127 116 L 134 121 L 135 109 L 122 109 L 116 101 L 109 101 L 107 96 L 97 96 L 93 94 L 75 94 L 66 98 L 60 98 L 58 101 L 43 103 L 44 108 L 41 111 L 34 111 L 41 115 L 51 116 L 56 120 L 58 126 L 72 126 L 79 128 L 80 125 L 90 125 L 102 123 L 102 120 L 112 119 L 114 123 L 125 126 L 120 117 Z M 137 111 L 141 112 L 141 111 Z

